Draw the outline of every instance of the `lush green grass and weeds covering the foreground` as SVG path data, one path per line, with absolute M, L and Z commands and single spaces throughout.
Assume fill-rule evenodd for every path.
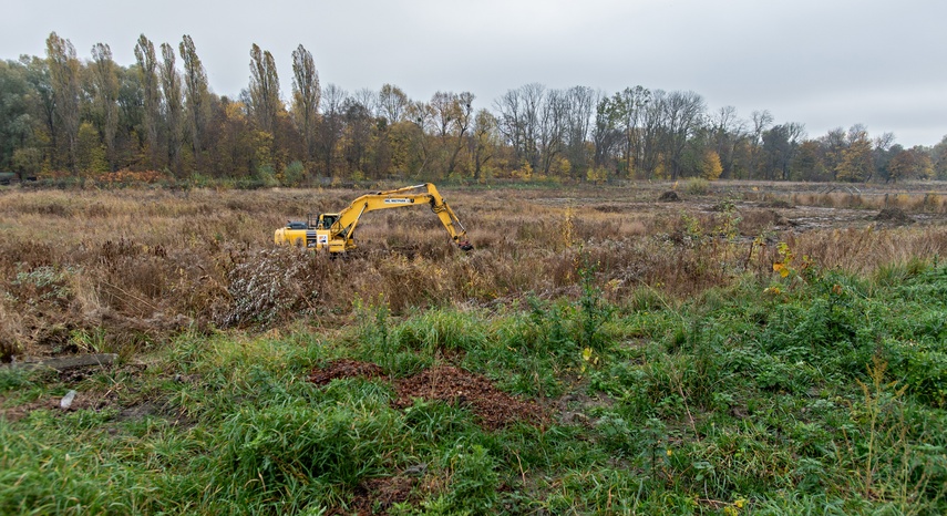
M 813 267 L 676 303 L 580 287 L 184 334 L 147 370 L 0 370 L 0 513 L 947 512 L 947 268 Z M 307 381 L 342 358 L 384 374 Z M 435 365 L 545 416 L 487 430 L 470 392 L 395 407 Z M 101 402 L 63 411 L 70 389 Z

